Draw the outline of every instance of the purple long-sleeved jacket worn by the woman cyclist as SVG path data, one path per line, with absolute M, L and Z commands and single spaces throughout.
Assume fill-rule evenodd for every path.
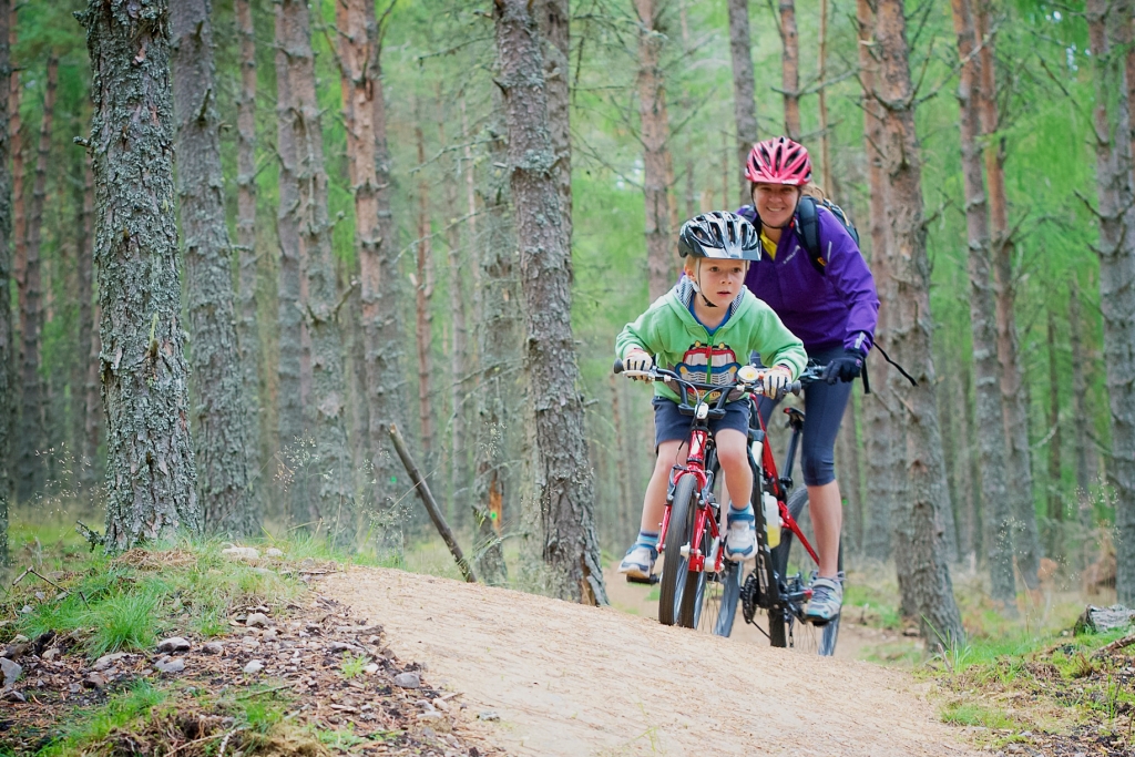
M 838 348 L 871 350 L 878 321 L 878 294 L 867 261 L 843 225 L 825 208 L 816 209 L 819 243 L 827 261 L 817 271 L 796 233 L 784 229 L 776 259 L 762 255 L 749 266 L 745 285 L 780 316 L 809 352 Z M 749 221 L 753 208 L 737 211 Z

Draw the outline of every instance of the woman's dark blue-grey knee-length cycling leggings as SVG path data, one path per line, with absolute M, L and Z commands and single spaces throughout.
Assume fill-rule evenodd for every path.
M 843 355 L 843 348 L 809 353 L 819 364 Z M 800 469 L 806 486 L 823 486 L 835 480 L 835 436 L 840 431 L 843 410 L 851 398 L 855 384 L 836 381 L 827 385 L 815 381 L 804 390 L 804 438 L 800 443 Z M 758 404 L 760 420 L 768 423 L 776 402 L 762 397 Z M 789 473 L 789 471 L 782 471 Z

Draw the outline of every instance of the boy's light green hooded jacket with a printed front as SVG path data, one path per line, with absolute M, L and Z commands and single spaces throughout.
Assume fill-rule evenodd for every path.
M 804 343 L 748 288 L 742 288 L 730 304 L 729 319 L 713 337 L 690 312 L 692 296 L 693 287 L 682 277 L 673 289 L 623 328 L 615 338 L 615 354 L 623 359 L 638 347 L 655 355 L 659 367 L 687 380 L 721 386 L 735 382 L 737 371 L 753 352 L 760 353 L 765 365 L 785 365 L 792 380 L 808 363 Z M 680 401 L 679 395 L 661 381 L 655 381 L 654 393 Z

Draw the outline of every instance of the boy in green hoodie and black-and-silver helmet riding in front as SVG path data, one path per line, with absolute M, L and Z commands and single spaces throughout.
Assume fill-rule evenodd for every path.
M 764 390 L 775 396 L 790 385 L 808 358 L 804 344 L 780 318 L 745 286 L 750 260 L 760 260 L 756 229 L 740 216 L 712 212 L 682 225 L 679 252 L 684 272 L 669 293 L 628 323 L 615 339 L 625 370 L 663 365 L 691 381 L 730 386 L 741 367 L 738 355 L 760 353 L 772 368 Z M 638 538 L 619 566 L 620 573 L 648 578 L 658 557 L 658 535 L 673 465 L 686 463 L 691 419 L 678 410 L 679 396 L 663 382 L 654 385 L 657 462 L 642 504 Z M 749 504 L 753 471 L 748 460 L 749 402 L 726 405 L 725 417 L 709 422 L 717 460 L 725 474 L 731 506 L 726 519 L 725 556 L 741 562 L 756 550 L 755 518 Z

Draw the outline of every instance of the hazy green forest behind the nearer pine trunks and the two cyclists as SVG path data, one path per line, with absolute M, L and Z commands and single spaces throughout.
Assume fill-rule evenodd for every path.
M 334 507 L 327 506 L 325 491 L 328 457 L 309 426 L 310 399 L 318 390 L 312 387 L 311 329 L 302 326 L 299 342 L 281 337 L 285 327 L 294 326 L 284 321 L 299 317 L 287 302 L 281 306 L 295 295 L 287 292 L 293 284 L 280 253 L 287 226 L 280 177 L 287 160 L 277 77 L 287 69 L 278 54 L 279 3 L 219 0 L 211 8 L 237 371 L 244 378 L 251 429 L 242 490 L 250 494 L 252 515 L 232 530 L 255 535 L 261 522 L 274 529 L 313 529 L 339 544 L 396 558 L 404 544 L 424 538 L 430 527 L 389 446 L 371 430 L 375 409 L 368 398 L 375 387 L 367 377 L 367 295 L 360 283 L 365 272 L 359 254 L 360 236 L 368 232 L 358 222 L 359 158 L 348 138 L 350 108 L 344 107 L 350 87 L 343 70 L 351 64 L 340 47 L 346 22 L 337 16 L 338 5 L 326 0 L 310 9 L 335 267 L 331 301 L 343 331 L 339 358 L 346 377 L 342 419 L 350 456 L 335 464 L 348 473 L 333 497 Z M 1115 485 L 1111 464 L 1117 460 L 1117 395 L 1108 380 L 1107 308 L 1101 310 L 1100 258 L 1093 250 L 1107 251 L 1110 238 L 1105 230 L 1101 241 L 1096 213 L 1104 208 L 1098 187 L 1107 163 L 1099 162 L 1100 145 L 1124 140 L 1109 141 L 1107 121 L 1101 132 L 1093 118 L 1103 109 L 1104 118 L 1123 121 L 1110 133 L 1130 131 L 1127 116 L 1119 118 L 1116 109 L 1128 104 L 1123 61 L 1132 48 L 1129 8 L 1107 7 L 1112 35 L 1107 66 L 1115 69 L 1109 74 L 1101 73 L 1107 66 L 1093 56 L 1090 42 L 1090 22 L 1099 25 L 1104 17 L 1093 3 L 939 0 L 903 9 L 902 3 L 850 0 L 781 0 L 775 6 L 579 0 L 548 7 L 568 7 L 571 17 L 566 48 L 545 42 L 545 70 L 549 86 L 558 79 L 568 92 L 571 329 L 594 470 L 595 533 L 607 555 L 621 553 L 637 530 L 650 471 L 651 428 L 647 390 L 611 375 L 613 338 L 657 295 L 659 280 L 672 280 L 676 225 L 698 212 L 748 201 L 740 179 L 743 144 L 782 133 L 804 141 L 814 155 L 817 183 L 859 226 L 876 275 L 883 267 L 876 247 L 888 237 L 874 235 L 872 219 L 888 210 L 893 216 L 903 200 L 893 191 L 885 197 L 873 192 L 872 182 L 880 180 L 877 174 L 873 179 L 873 167 L 877 171 L 889 163 L 871 129 L 880 99 L 873 104 L 865 91 L 872 91 L 873 66 L 890 54 L 883 40 L 873 39 L 873 15 L 877 11 L 883 23 L 884 10 L 897 7 L 905 10 L 909 45 L 901 65 L 915 89 L 905 104 L 884 104 L 909 111 L 920 143 L 915 162 L 920 162 L 918 203 L 925 212 L 918 226 L 925 232 L 930 312 L 919 322 L 933 333 L 933 353 L 905 354 L 894 347 L 901 338 L 892 344 L 885 334 L 881 343 L 933 387 L 926 396 L 936 403 L 947 490 L 931 503 L 934 527 L 927 538 L 939 544 L 945 562 L 989 570 L 992 591 L 1003 600 L 1016 592 L 1017 580 L 1034 584 L 1041 556 L 1068 574 L 1099 566 L 1101 555 L 1104 566 L 1109 558 L 1115 564 L 1112 544 L 1124 541 L 1113 525 L 1117 512 L 1123 523 L 1130 487 L 1125 489 L 1121 480 Z M 743 93 L 733 53 L 740 8 L 748 14 L 751 35 L 746 49 L 755 83 L 755 132 L 735 109 L 734 92 L 740 86 Z M 76 145 L 76 137 L 90 135 L 92 118 L 85 31 L 73 18 L 81 10 L 74 1 L 25 3 L 12 9 L 10 19 L 11 302 L 20 352 L 10 405 L 18 429 L 10 459 L 16 520 L 42 520 L 59 510 L 70 515 L 104 510 L 94 178 L 86 150 Z M 474 542 L 481 573 L 548 590 L 545 579 L 526 570 L 532 561 L 505 565 L 502 548 L 514 539 L 520 554 L 540 554 L 547 539 L 539 443 L 530 422 L 530 353 L 524 352 L 524 319 L 531 313 L 521 293 L 518 213 L 507 186 L 512 163 L 505 158 L 505 102 L 494 83 L 501 75 L 494 12 L 489 3 L 446 0 L 378 3 L 389 149 L 388 183 L 380 187 L 387 192 L 393 237 L 393 244 L 382 239 L 390 272 L 384 296 L 395 303 L 387 312 L 397 314 L 394 327 L 402 345 L 401 354 L 387 355 L 389 371 L 380 385 L 387 406 L 394 407 L 390 420 L 411 440 L 449 522 Z M 968 14 L 967 53 L 958 31 L 964 24 L 956 24 Z M 864 25 L 865 18 L 872 20 Z M 872 64 L 874 51 L 884 54 Z M 966 123 L 959 119 L 956 95 L 959 86 L 965 92 L 967 81 L 980 82 L 978 72 L 967 67 L 986 56 L 983 65 L 992 69 L 993 85 L 986 100 L 994 103 L 995 118 L 970 128 L 976 137 L 969 142 L 970 158 L 974 149 L 978 154 L 984 150 L 1003 165 L 1004 201 L 1000 232 L 994 218 L 993 242 L 986 233 L 977 245 L 986 268 L 975 269 L 975 237 L 967 226 L 974 193 L 966 184 Z M 1117 77 L 1111 79 L 1117 86 L 1101 89 L 1109 75 Z M 175 92 L 176 86 L 175 73 Z M 964 111 L 965 96 L 960 102 Z M 252 120 L 242 121 L 242 113 Z M 1129 175 L 1129 146 L 1126 154 Z M 176 157 L 178 167 L 182 160 Z M 1127 196 L 1132 184 L 1128 176 Z M 1111 218 L 1126 213 L 1125 208 L 1120 202 Z M 1008 268 L 991 276 L 994 253 Z M 301 297 L 309 296 L 311 280 L 303 279 Z M 1104 277 L 1104 291 L 1111 280 Z M 975 334 L 990 337 L 978 316 L 992 312 L 990 302 L 981 304 L 982 292 L 992 297 L 994 291 L 1015 295 L 1008 305 L 1000 301 L 1002 310 L 1008 308 L 1000 316 L 1014 317 L 1020 384 L 1007 386 L 1004 406 L 985 402 L 983 407 L 983 399 L 1001 397 L 998 387 L 1004 381 L 989 363 L 993 343 L 983 347 L 974 342 Z M 884 308 L 888 293 L 910 297 L 884 289 Z M 194 340 L 191 330 L 191 355 Z M 297 376 L 281 368 L 289 351 Z M 1120 370 L 1123 364 L 1116 365 L 1111 368 Z M 875 394 L 856 392 L 838 451 L 847 502 L 844 545 L 852 564 L 897 557 L 901 584 L 903 557 L 892 555 L 892 547 L 902 544 L 894 532 L 907 521 L 896 516 L 896 507 L 916 498 L 905 494 L 900 481 L 903 470 L 917 470 L 920 461 L 903 436 L 909 424 L 902 420 L 903 397 L 886 389 L 898 379 L 882 370 L 880 360 L 873 359 L 871 367 Z M 208 404 L 200 376 L 191 372 L 188 379 L 194 409 Z M 297 381 L 299 392 L 281 392 L 281 381 Z M 1027 443 L 1017 448 L 1025 449 L 1024 469 L 1012 466 L 1022 461 L 1010 460 L 1014 427 L 1007 407 L 1014 397 L 1023 399 Z M 1004 414 L 998 434 L 990 430 L 991 412 Z M 1129 432 L 1132 420 L 1118 418 L 1119 427 Z M 192 432 L 200 428 L 195 423 L 191 414 Z M 1001 457 L 991 456 L 991 435 L 1003 446 Z M 1121 472 L 1123 455 L 1118 460 Z M 208 491 L 200 489 L 203 478 L 199 471 L 199 490 L 207 499 Z M 1007 512 L 1010 501 L 1024 504 Z M 221 513 L 217 523 L 230 515 Z M 591 528 L 590 514 L 580 520 L 585 530 Z M 1010 549 L 1015 557 L 1007 557 Z M 1125 564 L 1123 549 L 1118 560 Z M 1115 569 L 1104 569 L 1103 580 L 1109 573 L 1113 581 Z M 913 595 L 907 608 L 911 614 L 919 609 Z

